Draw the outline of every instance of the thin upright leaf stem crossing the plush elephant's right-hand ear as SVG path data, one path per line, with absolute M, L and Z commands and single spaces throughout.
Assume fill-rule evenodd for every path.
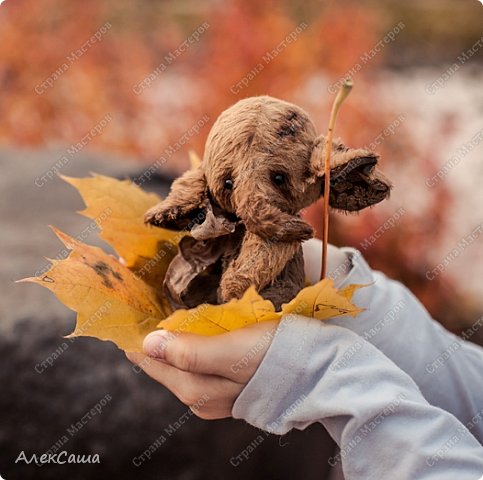
M 329 194 L 330 194 L 330 153 L 332 150 L 332 138 L 334 136 L 335 121 L 342 102 L 346 99 L 352 89 L 352 78 L 346 78 L 337 92 L 332 110 L 330 112 L 329 129 L 325 137 L 325 159 L 324 159 L 324 210 L 323 210 L 323 237 L 322 237 L 322 268 L 320 278 L 327 275 L 327 243 L 329 240 Z

